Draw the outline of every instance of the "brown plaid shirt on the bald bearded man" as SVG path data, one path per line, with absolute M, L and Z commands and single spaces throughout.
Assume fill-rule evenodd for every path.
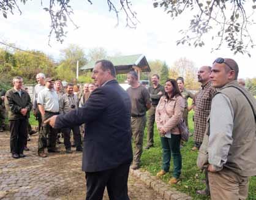
M 194 118 L 194 140 L 202 143 L 206 129 L 206 121 L 211 111 L 211 100 L 216 93 L 216 89 L 211 86 L 211 82 L 201 86 L 195 99 L 195 118 Z

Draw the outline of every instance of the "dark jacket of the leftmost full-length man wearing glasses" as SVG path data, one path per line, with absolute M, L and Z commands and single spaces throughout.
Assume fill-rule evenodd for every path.
M 6 109 L 8 111 L 9 120 L 28 119 L 29 112 L 32 108 L 31 98 L 28 92 L 21 90 L 21 97 L 15 89 L 10 89 L 6 92 L 5 99 Z M 27 108 L 28 113 L 23 116 L 20 111 L 22 108 Z

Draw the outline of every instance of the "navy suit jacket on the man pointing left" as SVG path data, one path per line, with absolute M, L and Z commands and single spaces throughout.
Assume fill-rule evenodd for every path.
M 132 161 L 130 98 L 116 80 L 92 92 L 82 108 L 56 118 L 55 128 L 86 123 L 83 171 L 104 171 Z

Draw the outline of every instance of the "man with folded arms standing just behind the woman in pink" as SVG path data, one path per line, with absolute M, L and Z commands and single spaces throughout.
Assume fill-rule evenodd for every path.
M 164 86 L 159 84 L 159 75 L 154 74 L 151 77 L 152 86 L 148 88 L 148 92 L 152 101 L 152 106 L 148 110 L 148 144 L 144 149 L 149 149 L 154 147 L 154 122 L 155 122 L 155 113 L 156 106 L 162 97 L 165 94 Z

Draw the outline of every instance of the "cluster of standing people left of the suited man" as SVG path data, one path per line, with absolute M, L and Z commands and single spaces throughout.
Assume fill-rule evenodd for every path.
M 59 135 L 64 138 L 66 153 L 72 153 L 71 131 L 74 139 L 73 146 L 76 147 L 78 152 L 82 152 L 83 147 L 79 126 L 55 129 L 43 122 L 55 114 L 64 114 L 78 108 L 78 106 L 82 106 L 85 103 L 85 99 L 96 89 L 96 85 L 94 83 L 85 84 L 83 92 L 80 92 L 79 86 L 72 83 L 67 83 L 63 86 L 60 80 L 45 78 L 43 73 L 37 74 L 36 80 L 38 84 L 34 87 L 32 102 L 27 91 L 28 88 L 24 88 L 23 78 L 20 76 L 13 78 L 12 89 L 7 92 L 1 90 L 4 91 L 5 95 L 2 95 L 1 101 L 5 101 L 5 108 L 9 113 L 10 152 L 12 157 L 25 157 L 23 151 L 29 150 L 27 147 L 28 137 L 36 133 L 29 124 L 30 111 L 33 111 L 39 122 L 38 154 L 40 157 L 47 157 L 46 148 L 48 152 L 59 152 L 56 148 L 56 141 L 58 141 Z

